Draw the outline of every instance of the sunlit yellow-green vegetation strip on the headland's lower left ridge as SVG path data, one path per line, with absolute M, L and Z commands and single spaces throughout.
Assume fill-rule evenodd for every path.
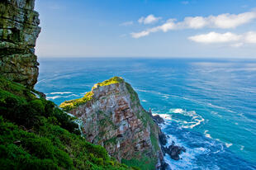
M 84 97 L 73 99 L 71 101 L 65 101 L 59 105 L 60 108 L 63 108 L 64 111 L 71 111 L 75 107 L 82 105 L 88 101 L 91 101 L 93 97 L 93 92 L 87 92 Z

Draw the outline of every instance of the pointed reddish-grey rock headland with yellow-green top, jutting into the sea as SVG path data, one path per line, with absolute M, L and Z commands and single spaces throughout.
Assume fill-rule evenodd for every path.
M 159 156 L 159 126 L 140 105 L 137 93 L 122 78 L 92 87 L 85 97 L 60 105 L 83 120 L 83 134 L 118 160 L 137 159 L 155 168 Z M 151 169 L 150 168 L 150 169 Z

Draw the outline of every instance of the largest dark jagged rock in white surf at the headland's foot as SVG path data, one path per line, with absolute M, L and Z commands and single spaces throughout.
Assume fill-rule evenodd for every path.
M 183 152 L 186 152 L 186 149 L 184 147 L 177 146 L 174 142 L 168 147 L 162 146 L 162 150 L 164 154 L 168 153 L 168 155 L 174 160 L 179 160 L 179 155 Z

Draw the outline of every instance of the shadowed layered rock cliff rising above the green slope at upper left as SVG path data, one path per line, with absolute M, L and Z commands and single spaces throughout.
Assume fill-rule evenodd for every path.
M 34 87 L 38 77 L 36 38 L 40 33 L 35 0 L 0 2 L 0 73 L 26 87 Z

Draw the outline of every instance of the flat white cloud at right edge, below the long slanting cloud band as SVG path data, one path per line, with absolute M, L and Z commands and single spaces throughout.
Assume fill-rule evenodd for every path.
M 249 31 L 244 34 L 209 32 L 207 34 L 190 36 L 188 40 L 203 44 L 225 43 L 232 47 L 240 47 L 244 44 L 256 44 L 256 32 Z

